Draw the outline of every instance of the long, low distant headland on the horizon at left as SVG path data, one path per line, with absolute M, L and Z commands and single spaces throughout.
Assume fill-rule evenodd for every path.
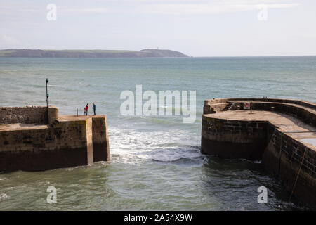
M 34 58 L 145 58 L 145 57 L 188 57 L 178 51 L 161 49 L 128 50 L 41 50 L 4 49 L 0 57 Z

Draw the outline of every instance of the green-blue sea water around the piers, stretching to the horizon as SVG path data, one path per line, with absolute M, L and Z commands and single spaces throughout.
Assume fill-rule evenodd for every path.
M 0 210 L 305 210 L 260 162 L 200 153 L 205 99 L 316 102 L 316 57 L 0 58 L 0 106 L 46 105 L 107 115 L 110 162 L 0 174 Z M 122 91 L 196 91 L 197 118 L 123 116 Z M 91 110 L 89 111 L 91 114 Z M 27 163 L 27 162 L 26 162 Z M 57 203 L 48 204 L 48 186 Z M 259 204 L 257 189 L 268 188 Z

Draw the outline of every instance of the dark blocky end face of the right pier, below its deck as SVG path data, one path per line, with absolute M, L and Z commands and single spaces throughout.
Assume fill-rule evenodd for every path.
M 267 122 L 202 118 L 201 151 L 223 158 L 261 160 Z

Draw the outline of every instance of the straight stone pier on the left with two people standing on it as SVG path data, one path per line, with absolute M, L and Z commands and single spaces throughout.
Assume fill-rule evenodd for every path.
M 110 160 L 107 117 L 58 108 L 0 108 L 0 172 L 40 171 Z

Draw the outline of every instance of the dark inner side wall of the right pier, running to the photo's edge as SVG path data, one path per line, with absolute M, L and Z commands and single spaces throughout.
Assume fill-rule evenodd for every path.
M 263 153 L 265 169 L 282 180 L 296 198 L 316 207 L 316 152 L 272 124 L 268 128 L 268 145 Z M 299 174 L 298 174 L 299 173 Z

